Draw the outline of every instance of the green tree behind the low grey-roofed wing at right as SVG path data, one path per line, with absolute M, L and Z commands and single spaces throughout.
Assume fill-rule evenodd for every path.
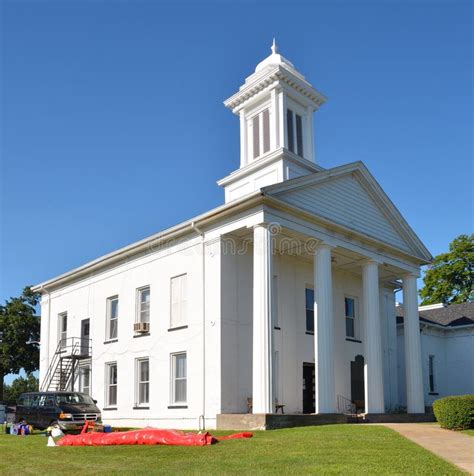
M 423 277 L 422 305 L 474 301 L 474 234 L 459 235 L 441 253 Z

